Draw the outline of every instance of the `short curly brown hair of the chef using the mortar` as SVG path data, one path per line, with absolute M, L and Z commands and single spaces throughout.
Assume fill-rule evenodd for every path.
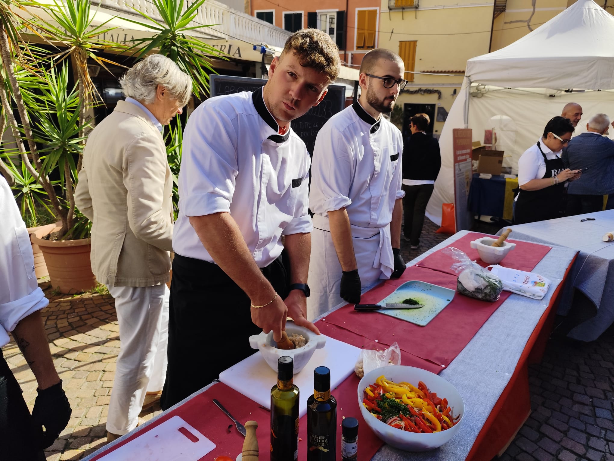
M 341 66 L 339 49 L 330 35 L 324 31 L 319 29 L 296 31 L 286 40 L 279 59 L 288 52 L 292 52 L 298 58 L 301 66 L 326 74 L 330 82 L 334 82 L 339 76 Z

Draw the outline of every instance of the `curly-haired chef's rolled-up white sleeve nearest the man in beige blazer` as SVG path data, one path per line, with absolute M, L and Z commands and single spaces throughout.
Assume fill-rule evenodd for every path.
M 185 128 L 179 209 L 185 216 L 230 212 L 238 175 L 238 121 L 207 103 L 198 109 Z

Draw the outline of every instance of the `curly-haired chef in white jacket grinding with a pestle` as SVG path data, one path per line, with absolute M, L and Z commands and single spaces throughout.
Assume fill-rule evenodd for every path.
M 188 120 L 163 409 L 251 355 L 251 334 L 279 341 L 287 316 L 319 333 L 306 320 L 309 153 L 290 120 L 324 99 L 338 53 L 328 34 L 297 31 L 263 89 L 211 98 Z

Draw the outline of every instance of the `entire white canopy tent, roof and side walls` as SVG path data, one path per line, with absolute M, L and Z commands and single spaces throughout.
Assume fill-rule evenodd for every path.
M 597 112 L 614 118 L 614 17 L 593 0 L 578 0 L 513 44 L 467 61 L 461 92 L 441 131 L 441 171 L 427 216 L 440 224 L 441 204 L 454 202 L 453 128 L 472 128 L 473 140 L 483 141 L 492 117 L 510 117 L 517 132 L 505 154 L 516 170 L 518 157 L 570 102 L 585 114 L 576 134 Z

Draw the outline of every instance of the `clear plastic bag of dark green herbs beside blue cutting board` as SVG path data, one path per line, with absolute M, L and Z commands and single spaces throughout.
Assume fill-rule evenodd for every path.
M 447 254 L 456 261 L 451 267 L 459 274 L 456 289 L 465 296 L 475 297 L 481 301 L 497 301 L 503 290 L 503 282 L 499 277 L 491 274 L 480 264 L 473 262 L 467 254 L 451 246 L 444 248 L 441 253 Z

